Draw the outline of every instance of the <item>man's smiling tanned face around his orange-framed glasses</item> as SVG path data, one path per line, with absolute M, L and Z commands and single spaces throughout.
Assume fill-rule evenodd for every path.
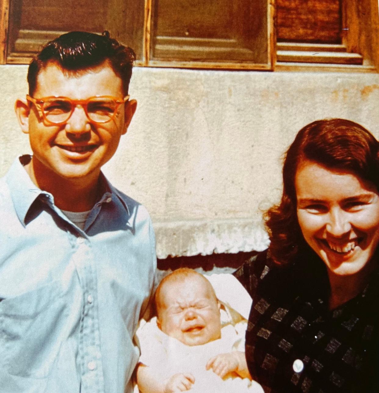
M 65 73 L 57 64 L 50 63 L 39 72 L 33 97 L 84 100 L 97 95 L 124 97 L 121 79 L 107 63 L 75 74 Z M 20 123 L 23 131 L 29 133 L 33 167 L 45 175 L 66 179 L 97 179 L 101 166 L 113 156 L 121 135 L 127 131 L 135 108 L 136 101 L 120 105 L 112 120 L 94 123 L 86 117 L 83 107 L 77 105 L 66 123 L 52 125 L 31 105 L 24 127 L 22 119 Z

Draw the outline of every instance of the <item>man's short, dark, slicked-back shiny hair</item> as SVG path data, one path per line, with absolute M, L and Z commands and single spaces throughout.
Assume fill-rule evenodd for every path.
M 114 73 L 121 78 L 124 93 L 127 94 L 135 59 L 134 51 L 110 38 L 108 31 L 102 35 L 85 31 L 62 34 L 48 42 L 30 62 L 29 95 L 33 96 L 38 73 L 48 62 L 58 63 L 64 70 L 75 72 L 96 67 L 104 61 L 108 61 Z

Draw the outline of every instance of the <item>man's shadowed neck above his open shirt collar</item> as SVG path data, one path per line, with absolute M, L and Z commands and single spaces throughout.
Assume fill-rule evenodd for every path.
M 66 179 L 52 171 L 39 171 L 33 160 L 24 166 L 31 181 L 54 196 L 54 204 L 66 211 L 88 211 L 99 199 L 99 173 L 86 178 Z

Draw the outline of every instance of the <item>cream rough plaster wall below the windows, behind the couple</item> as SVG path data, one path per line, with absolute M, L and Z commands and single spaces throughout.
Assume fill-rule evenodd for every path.
M 28 152 L 13 103 L 26 66 L 0 66 L 0 174 Z M 342 117 L 379 136 L 379 75 L 135 68 L 137 112 L 110 180 L 142 202 L 158 257 L 259 250 L 278 201 L 281 155 L 305 124 Z

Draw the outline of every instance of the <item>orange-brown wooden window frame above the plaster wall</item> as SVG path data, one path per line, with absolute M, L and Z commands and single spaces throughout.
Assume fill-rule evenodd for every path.
M 11 0 L 0 0 L 0 64 L 28 64 L 31 56 L 7 56 L 10 1 Z M 276 42 L 275 0 L 269 1 L 267 12 L 267 48 L 269 51 L 269 61 L 267 64 L 217 61 L 155 61 L 151 59 L 151 42 L 153 39 L 151 35 L 152 2 L 153 0 L 145 0 L 144 38 L 142 50 L 143 56 L 141 60 L 136 61 L 136 66 L 230 70 L 272 70 L 283 72 L 379 72 L 379 12 L 377 0 L 343 0 L 342 24 L 343 26 L 349 26 L 349 30 L 346 31 L 346 35 L 343 39 L 343 44 L 346 46 L 349 52 L 361 53 L 363 55 L 363 65 L 302 62 L 300 50 L 298 55 L 299 61 L 278 61 L 277 54 L 278 51 L 280 51 L 281 44 Z M 370 12 L 363 13 L 363 8 L 369 8 Z M 325 48 L 323 48 L 323 50 L 327 51 Z

